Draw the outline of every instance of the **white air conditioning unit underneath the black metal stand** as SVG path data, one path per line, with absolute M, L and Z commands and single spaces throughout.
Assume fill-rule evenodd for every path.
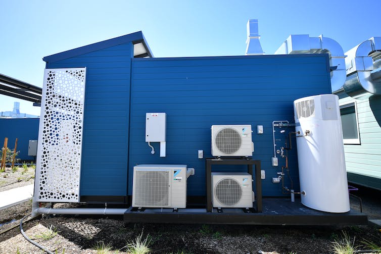
M 252 208 L 254 192 L 248 173 L 212 173 L 213 207 Z

